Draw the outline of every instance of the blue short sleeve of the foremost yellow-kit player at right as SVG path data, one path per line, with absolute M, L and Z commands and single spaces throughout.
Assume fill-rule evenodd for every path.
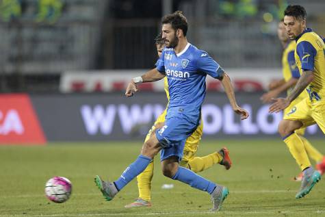
M 307 41 L 297 45 L 297 53 L 301 62 L 302 71 L 313 71 L 316 49 Z

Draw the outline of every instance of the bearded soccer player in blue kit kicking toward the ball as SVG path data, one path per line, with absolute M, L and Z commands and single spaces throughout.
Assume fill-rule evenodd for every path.
M 141 77 L 132 79 L 125 95 L 132 97 L 138 91 L 137 84 L 168 78 L 170 103 L 164 125 L 153 131 L 151 138 L 144 142 L 141 154 L 114 182 L 103 181 L 99 175 L 95 183 L 107 201 L 137 177 L 148 166 L 153 157 L 161 151 L 161 167 L 166 177 L 187 183 L 193 188 L 211 195 L 212 209 L 218 211 L 229 194 L 228 188 L 213 183 L 193 171 L 179 166 L 185 140 L 200 124 L 201 105 L 205 98 L 205 77 L 210 75 L 222 82 L 233 111 L 242 120 L 248 112 L 237 105 L 233 86 L 228 75 L 216 61 L 187 42 L 187 20 L 182 12 L 174 12 L 162 18 L 162 38 L 166 47 L 157 62 L 157 68 Z M 220 117 L 221 118 L 221 117 Z

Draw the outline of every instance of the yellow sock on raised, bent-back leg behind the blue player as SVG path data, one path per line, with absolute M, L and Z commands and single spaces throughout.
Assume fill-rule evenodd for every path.
M 214 164 L 219 164 L 222 161 L 222 156 L 220 153 L 215 152 L 204 157 L 194 157 L 188 161 L 188 168 L 194 173 L 201 172 L 210 168 Z

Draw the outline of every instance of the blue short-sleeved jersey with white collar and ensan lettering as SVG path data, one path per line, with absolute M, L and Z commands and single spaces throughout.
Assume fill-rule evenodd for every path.
M 197 118 L 205 98 L 205 77 L 220 79 L 224 73 L 207 52 L 190 43 L 178 54 L 172 48 L 165 48 L 157 62 L 157 70 L 168 79 L 167 117 L 182 110 L 187 116 Z

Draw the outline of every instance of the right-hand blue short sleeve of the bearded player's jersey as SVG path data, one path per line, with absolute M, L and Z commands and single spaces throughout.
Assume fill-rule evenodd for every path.
M 224 75 L 223 68 L 213 60 L 205 51 L 201 51 L 197 60 L 198 71 L 206 73 L 211 77 L 220 79 Z

